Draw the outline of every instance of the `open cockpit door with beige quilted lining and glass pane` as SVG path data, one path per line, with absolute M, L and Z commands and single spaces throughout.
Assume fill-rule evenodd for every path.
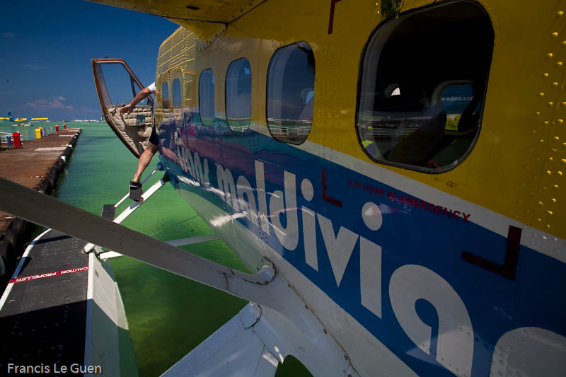
M 112 131 L 139 158 L 154 125 L 154 99 L 149 95 L 129 114 L 120 109 L 145 88 L 122 59 L 92 59 L 94 82 L 104 118 Z

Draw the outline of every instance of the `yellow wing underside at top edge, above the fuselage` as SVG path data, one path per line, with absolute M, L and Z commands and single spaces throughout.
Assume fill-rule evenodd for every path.
M 266 0 L 90 0 L 95 3 L 165 17 L 206 40 Z

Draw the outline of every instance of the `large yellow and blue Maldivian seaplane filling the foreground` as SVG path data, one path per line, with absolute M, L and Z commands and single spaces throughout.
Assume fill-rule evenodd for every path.
M 3 207 L 250 301 L 166 376 L 564 376 L 564 1 L 98 2 L 180 25 L 102 110 L 253 274 Z

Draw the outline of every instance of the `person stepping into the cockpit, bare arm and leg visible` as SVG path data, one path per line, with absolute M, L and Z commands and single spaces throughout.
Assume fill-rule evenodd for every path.
M 137 93 L 134 97 L 132 102 L 125 105 L 123 108 L 120 109 L 121 114 L 129 114 L 134 110 L 136 105 L 141 102 L 142 100 L 146 99 L 151 93 L 155 93 L 155 82 L 151 83 L 148 87 L 142 89 Z M 144 173 L 147 166 L 151 162 L 151 158 L 154 157 L 154 154 L 158 150 L 159 140 L 157 139 L 157 134 L 155 132 L 155 126 L 151 130 L 151 137 L 149 137 L 149 143 L 146 146 L 146 149 L 141 153 L 139 156 L 139 160 L 137 162 L 137 170 L 134 174 L 134 179 L 129 182 L 129 199 L 135 200 L 136 202 L 141 199 L 141 194 L 144 193 L 144 190 L 141 188 L 141 174 Z

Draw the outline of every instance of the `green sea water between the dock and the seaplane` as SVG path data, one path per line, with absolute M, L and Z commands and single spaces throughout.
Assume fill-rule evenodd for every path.
M 62 122 L 42 122 L 47 128 Z M 35 127 L 11 127 L 33 132 Z M 104 204 L 115 204 L 129 189 L 137 158 L 117 139 L 105 123 L 67 122 L 83 132 L 52 194 L 63 202 L 100 214 Z M 54 129 L 54 127 L 53 127 Z M 35 134 L 30 134 L 30 138 Z M 24 136 L 25 138 L 25 136 Z M 156 166 L 158 156 L 146 173 Z M 148 188 L 163 172 L 144 183 Z M 122 211 L 129 200 L 116 211 Z M 212 234 L 171 185 L 166 185 L 134 212 L 122 225 L 159 240 Z M 209 260 L 248 271 L 243 262 L 221 241 L 183 247 Z M 156 250 L 158 253 L 158 250 Z M 110 260 L 124 302 L 129 335 L 140 376 L 159 376 L 246 306 L 246 301 L 217 289 L 178 277 L 156 267 L 117 257 Z M 276 376 L 310 376 L 299 361 L 285 359 Z

